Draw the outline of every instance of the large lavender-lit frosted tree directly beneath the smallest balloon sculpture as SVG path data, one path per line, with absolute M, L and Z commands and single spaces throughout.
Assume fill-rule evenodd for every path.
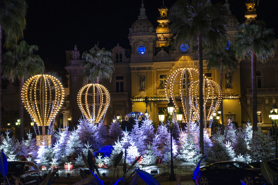
M 88 120 L 79 120 L 76 130 L 77 135 L 81 140 L 81 145 L 85 145 L 89 142 L 92 145 L 93 150 L 98 150 L 102 147 L 102 138 L 99 135 L 97 126 L 94 123 L 90 123 Z

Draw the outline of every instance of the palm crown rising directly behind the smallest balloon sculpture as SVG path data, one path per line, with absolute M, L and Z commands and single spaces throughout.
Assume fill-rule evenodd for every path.
M 94 47 L 90 50 L 90 53 L 83 52 L 82 59 L 85 59 L 81 60 L 84 73 L 83 82 L 85 84 L 99 84 L 102 79 L 109 79 L 111 82 L 114 70 L 114 63 L 111 58 L 112 53 L 106 51 L 105 48 L 99 50 Z

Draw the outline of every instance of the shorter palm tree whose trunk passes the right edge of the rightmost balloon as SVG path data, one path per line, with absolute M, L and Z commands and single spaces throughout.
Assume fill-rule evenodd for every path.
M 223 92 L 223 71 L 235 71 L 237 70 L 238 61 L 235 57 L 235 52 L 229 48 L 226 49 L 224 45 L 222 48 L 215 48 L 215 50 L 207 54 L 207 68 L 215 68 L 220 70 L 220 90 Z M 224 114 L 223 114 L 223 101 L 220 102 L 221 111 L 221 134 L 224 135 Z

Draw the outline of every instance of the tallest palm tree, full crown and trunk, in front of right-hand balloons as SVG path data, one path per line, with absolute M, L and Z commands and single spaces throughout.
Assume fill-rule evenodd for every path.
M 199 108 L 203 110 L 203 49 L 211 49 L 225 40 L 225 17 L 227 9 L 210 0 L 178 0 L 169 11 L 171 30 L 176 44 L 188 42 L 198 45 L 199 58 Z M 200 148 L 204 153 L 203 111 L 200 111 Z

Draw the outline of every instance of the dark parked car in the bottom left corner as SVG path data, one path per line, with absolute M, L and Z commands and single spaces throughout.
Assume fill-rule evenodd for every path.
M 9 161 L 7 178 L 10 184 L 15 184 L 16 176 L 23 184 L 41 184 L 41 171 L 38 166 L 31 161 Z M 1 175 L 1 185 L 4 183 L 4 176 Z M 6 184 L 8 184 L 6 179 Z

